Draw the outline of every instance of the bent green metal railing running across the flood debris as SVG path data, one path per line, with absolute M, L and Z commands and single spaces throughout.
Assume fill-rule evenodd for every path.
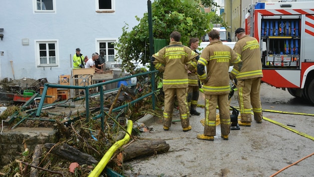
M 138 77 L 138 76 L 144 76 L 144 75 L 148 75 L 148 74 L 151 74 L 152 77 L 151 77 L 151 83 L 152 83 L 152 91 L 131 101 L 131 102 L 128 102 L 124 105 L 121 105 L 117 108 L 114 108 L 112 110 L 112 112 L 116 112 L 118 110 L 121 110 L 125 107 L 128 107 L 130 104 L 133 105 L 134 103 L 148 97 L 148 96 L 151 96 L 152 95 L 152 102 L 153 102 L 153 109 L 155 110 L 155 105 L 156 105 L 156 102 L 155 102 L 155 92 L 156 92 L 156 88 L 155 88 L 155 73 L 157 73 L 158 71 L 157 70 L 154 70 L 154 71 L 149 71 L 149 72 L 145 72 L 145 73 L 139 73 L 139 74 L 135 74 L 135 75 L 131 75 L 131 76 L 126 76 L 126 77 L 123 77 L 123 78 L 118 78 L 118 79 L 114 79 L 114 80 L 111 80 L 111 81 L 106 81 L 106 82 L 103 82 L 103 83 L 97 83 L 97 84 L 93 84 L 93 85 L 89 85 L 89 86 L 68 86 L 68 85 L 56 85 L 56 84 L 48 84 L 48 83 L 45 83 L 44 84 L 44 88 L 43 88 L 43 91 L 42 91 L 42 95 L 41 95 L 41 99 L 40 99 L 40 102 L 39 102 L 39 105 L 38 105 L 38 108 L 37 108 L 37 112 L 36 112 L 36 117 L 40 117 L 40 113 L 41 113 L 41 109 L 43 107 L 43 104 L 44 104 L 44 98 L 46 97 L 46 93 L 47 93 L 47 89 L 48 88 L 61 88 L 61 89 L 83 89 L 85 90 L 85 101 L 86 101 L 86 122 L 89 120 L 90 118 L 90 107 L 89 107 L 89 90 L 90 89 L 93 89 L 93 88 L 102 88 L 104 85 L 107 85 L 107 84 L 111 84 L 111 83 L 115 83 L 115 82 L 119 82 L 119 81 L 124 81 L 124 80 L 128 80 L 128 79 L 131 79 L 131 78 L 134 78 L 134 77 Z M 100 89 L 99 90 L 99 95 L 100 95 L 100 114 L 97 115 L 95 117 L 95 119 L 97 118 L 101 118 L 101 126 L 102 126 L 102 129 L 104 130 L 104 116 L 105 116 L 105 113 L 104 113 L 104 93 L 108 92 L 108 91 L 112 91 L 112 90 L 118 90 L 119 88 L 116 88 L 116 89 L 111 89 L 111 90 L 106 90 L 104 91 L 103 89 Z

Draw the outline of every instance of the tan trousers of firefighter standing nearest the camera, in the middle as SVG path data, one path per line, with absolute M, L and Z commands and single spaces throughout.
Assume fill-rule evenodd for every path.
M 221 135 L 230 133 L 229 94 L 205 94 L 205 125 L 204 135 L 216 135 L 216 107 L 219 107 Z

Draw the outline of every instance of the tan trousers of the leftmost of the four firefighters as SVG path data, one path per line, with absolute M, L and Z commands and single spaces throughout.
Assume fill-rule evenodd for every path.
M 181 126 L 182 128 L 188 127 L 190 123 L 188 116 L 188 107 L 186 102 L 187 88 L 174 88 L 174 89 L 163 88 L 163 91 L 164 91 L 163 125 L 166 127 L 171 126 L 174 99 L 176 95 L 179 104 Z

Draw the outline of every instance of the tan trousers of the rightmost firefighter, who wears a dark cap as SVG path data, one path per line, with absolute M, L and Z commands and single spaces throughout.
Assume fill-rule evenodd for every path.
M 254 119 L 262 121 L 261 78 L 238 80 L 237 88 L 241 122 L 252 122 L 251 105 Z

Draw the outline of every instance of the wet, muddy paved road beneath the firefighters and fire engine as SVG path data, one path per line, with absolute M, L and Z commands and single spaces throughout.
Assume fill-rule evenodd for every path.
M 314 106 L 291 96 L 288 91 L 262 84 L 263 110 L 279 110 L 314 114 Z M 199 104 L 204 104 L 200 95 Z M 238 106 L 237 96 L 231 100 Z M 277 124 L 263 120 L 252 122 L 251 127 L 232 130 L 229 140 L 223 140 L 220 126 L 216 127 L 214 141 L 196 138 L 203 133 L 199 122 L 204 118 L 204 109 L 198 107 L 200 116 L 192 116 L 192 130 L 183 132 L 180 122 L 163 131 L 162 121 L 150 125 L 151 133 L 142 133 L 140 138 L 164 139 L 170 145 L 165 154 L 142 158 L 126 163 L 131 170 L 126 177 L 270 177 L 279 170 L 314 153 L 314 116 L 263 112 L 263 116 L 309 135 L 301 136 Z M 178 119 L 178 117 L 174 117 Z M 312 137 L 312 139 L 311 139 Z M 313 177 L 314 156 L 294 165 L 276 177 Z

